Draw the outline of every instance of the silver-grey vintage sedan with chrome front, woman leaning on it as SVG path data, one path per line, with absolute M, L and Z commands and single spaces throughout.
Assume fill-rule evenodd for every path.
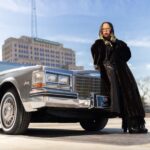
M 116 117 L 109 98 L 100 95 L 100 83 L 97 71 L 2 63 L 1 128 L 6 134 L 22 134 L 30 122 L 80 122 L 86 131 L 99 131 Z

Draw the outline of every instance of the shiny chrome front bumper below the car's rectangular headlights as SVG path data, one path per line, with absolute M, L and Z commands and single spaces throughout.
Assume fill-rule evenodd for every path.
M 91 108 L 91 100 L 74 98 L 61 98 L 51 96 L 35 96 L 23 103 L 27 112 L 37 111 L 44 107 L 57 108 Z

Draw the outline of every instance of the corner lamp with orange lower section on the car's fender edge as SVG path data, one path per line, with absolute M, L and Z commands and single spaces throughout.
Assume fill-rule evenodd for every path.
M 32 74 L 32 86 L 35 88 L 41 88 L 45 86 L 44 72 L 34 71 Z

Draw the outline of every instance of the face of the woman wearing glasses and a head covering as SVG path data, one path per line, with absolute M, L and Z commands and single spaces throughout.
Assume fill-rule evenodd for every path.
M 111 27 L 108 23 L 104 23 L 102 26 L 101 34 L 104 38 L 109 38 L 111 35 Z

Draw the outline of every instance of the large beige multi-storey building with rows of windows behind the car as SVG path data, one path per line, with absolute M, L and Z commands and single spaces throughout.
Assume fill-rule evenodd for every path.
M 40 38 L 21 36 L 8 38 L 2 46 L 2 60 L 5 62 L 36 65 L 52 68 L 83 69 L 76 66 L 75 52 L 63 44 Z M 76 68 L 77 67 L 77 68 Z

